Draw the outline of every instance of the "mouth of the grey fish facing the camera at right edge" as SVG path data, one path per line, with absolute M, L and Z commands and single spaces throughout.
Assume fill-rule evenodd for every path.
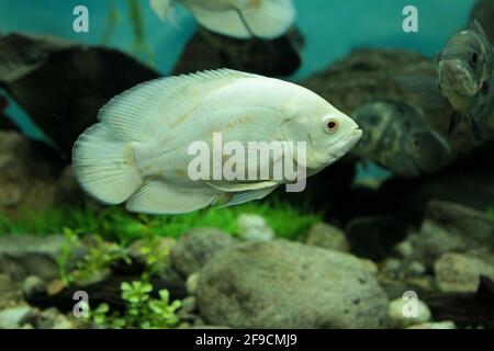
M 439 83 L 441 89 L 449 88 L 465 97 L 474 97 L 480 90 L 470 68 L 459 59 L 439 63 Z

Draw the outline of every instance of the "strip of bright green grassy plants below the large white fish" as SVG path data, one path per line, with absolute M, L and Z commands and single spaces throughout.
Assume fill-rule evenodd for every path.
M 321 222 L 322 215 L 308 206 L 293 205 L 280 200 L 251 202 L 239 206 L 202 210 L 183 215 L 135 215 L 121 207 L 50 208 L 42 212 L 26 211 L 13 219 L 0 213 L 0 234 L 61 233 L 72 228 L 77 234 L 99 234 L 106 240 L 122 245 L 149 235 L 178 238 L 191 228 L 215 227 L 232 235 L 238 233 L 237 218 L 243 213 L 266 218 L 279 237 L 293 239 L 305 234 L 311 225 Z

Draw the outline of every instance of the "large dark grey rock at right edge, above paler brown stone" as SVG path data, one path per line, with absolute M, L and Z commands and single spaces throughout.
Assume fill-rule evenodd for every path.
M 448 252 L 493 257 L 494 219 L 482 212 L 441 201 L 431 201 L 417 235 L 409 237 L 414 258 L 426 267 Z

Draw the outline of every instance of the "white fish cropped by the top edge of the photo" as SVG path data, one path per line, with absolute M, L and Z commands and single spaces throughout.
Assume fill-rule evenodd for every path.
M 153 10 L 170 18 L 175 2 L 186 7 L 212 32 L 236 38 L 276 38 L 295 22 L 293 0 L 150 0 Z

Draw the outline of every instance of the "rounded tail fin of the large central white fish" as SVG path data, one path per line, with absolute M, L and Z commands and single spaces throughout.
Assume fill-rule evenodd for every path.
M 105 204 L 123 203 L 143 183 L 134 149 L 103 123 L 79 136 L 72 149 L 72 167 L 85 192 Z

